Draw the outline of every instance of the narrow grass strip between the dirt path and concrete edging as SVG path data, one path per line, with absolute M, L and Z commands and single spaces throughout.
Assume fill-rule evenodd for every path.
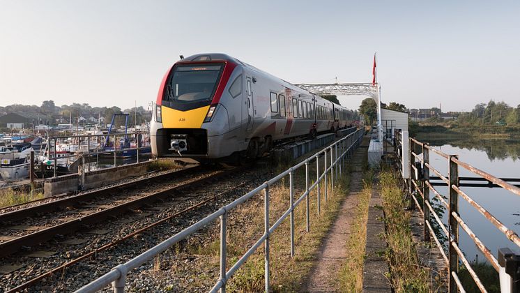
M 363 261 L 367 241 L 368 204 L 372 193 L 374 172 L 365 173 L 351 234 L 346 243 L 346 262 L 339 271 L 339 285 L 342 292 L 361 292 L 363 286 Z

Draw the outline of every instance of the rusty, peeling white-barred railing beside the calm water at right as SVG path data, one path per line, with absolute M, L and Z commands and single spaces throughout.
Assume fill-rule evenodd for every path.
M 396 141 L 395 146 L 399 149 L 402 146 L 402 137 L 400 133 L 396 133 Z M 460 290 L 461 292 L 465 292 L 464 287 L 462 287 L 461 282 L 459 280 L 459 260 L 468 270 L 471 278 L 475 281 L 477 287 L 481 290 L 481 292 L 487 292 L 486 288 L 482 284 L 480 278 L 478 278 L 477 273 L 472 269 L 470 263 L 466 259 L 466 256 L 462 252 L 459 246 L 459 227 L 461 227 L 470 238 L 475 243 L 475 246 L 482 252 L 484 257 L 489 261 L 491 266 L 499 272 L 501 266 L 498 264 L 497 258 L 491 253 L 489 248 L 487 248 L 484 243 L 473 233 L 471 228 L 464 222 L 459 214 L 459 197 L 462 197 L 466 202 L 468 202 L 471 206 L 473 206 L 476 211 L 482 214 L 484 218 L 489 220 L 500 232 L 505 234 L 507 239 L 512 241 L 517 248 L 520 248 L 520 238 L 513 230 L 506 227 L 503 223 L 498 220 L 495 216 L 493 216 L 489 211 L 484 209 L 484 207 L 475 200 L 473 200 L 468 194 L 460 189 L 460 186 L 463 186 L 460 183 L 461 177 L 459 177 L 459 167 L 468 170 L 469 172 L 476 174 L 481 177 L 484 181 L 489 181 L 491 183 L 496 184 L 496 186 L 500 186 L 505 190 L 510 191 L 514 195 L 520 195 L 520 188 L 514 186 L 502 179 L 497 178 L 487 172 L 479 170 L 468 163 L 464 163 L 459 160 L 457 155 L 448 155 L 447 153 L 443 153 L 438 149 L 430 147 L 427 143 L 420 142 L 413 138 L 408 138 L 409 145 L 409 164 L 400 165 L 399 167 L 406 168 L 408 167 L 412 176 L 410 179 L 406 179 L 406 185 L 408 187 L 408 193 L 411 195 L 411 200 L 415 202 L 415 205 L 422 213 L 423 216 L 423 225 L 424 225 L 424 240 L 430 241 L 430 237 L 433 237 L 437 247 L 439 248 L 443 259 L 446 264 L 448 264 L 448 290 L 449 292 L 457 292 Z M 444 176 L 441 171 L 436 170 L 430 164 L 429 153 L 433 152 L 436 155 L 441 156 L 448 161 L 448 175 Z M 401 154 L 402 155 L 402 152 Z M 441 195 L 434 188 L 435 185 L 430 182 L 433 179 L 433 176 L 430 176 L 430 171 L 436 174 L 436 179 L 440 179 L 445 183 L 445 186 L 448 186 L 448 200 Z M 434 198 L 436 198 L 440 204 L 443 205 L 445 209 L 448 209 L 448 225 L 445 226 L 435 209 L 431 206 L 431 198 L 430 191 L 433 193 Z M 420 195 L 420 197 L 418 197 Z M 420 200 L 422 204 L 420 204 Z M 431 222 L 431 216 L 435 222 Z M 448 242 L 448 251 L 445 251 L 443 248 L 443 243 L 439 241 L 439 237 L 436 235 L 434 231 L 434 224 L 440 227 L 438 232 L 441 233 L 441 236 L 445 236 Z M 442 235 L 443 234 L 443 235 Z

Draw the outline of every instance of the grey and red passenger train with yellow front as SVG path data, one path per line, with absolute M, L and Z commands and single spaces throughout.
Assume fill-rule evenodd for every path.
M 227 54 L 174 63 L 151 118 L 155 157 L 198 162 L 257 158 L 273 145 L 336 131 L 353 112 Z

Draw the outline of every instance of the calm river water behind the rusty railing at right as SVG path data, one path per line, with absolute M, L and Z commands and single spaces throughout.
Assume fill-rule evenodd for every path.
M 427 141 L 427 140 L 423 140 Z M 473 165 L 499 178 L 520 178 L 520 140 L 430 140 L 431 146 L 444 153 L 459 155 L 459 160 Z M 430 162 L 443 175 L 448 174 L 448 160 L 430 152 Z M 430 172 L 434 176 L 433 172 Z M 459 167 L 459 176 L 476 177 L 476 174 Z M 514 183 L 520 184 L 520 183 Z M 436 190 L 447 198 L 448 188 L 436 186 Z M 487 209 L 506 227 L 520 235 L 520 196 L 503 188 L 463 187 L 461 188 L 478 204 Z M 430 193 L 430 198 L 434 197 Z M 437 206 L 440 206 L 438 204 Z M 498 254 L 498 248 L 508 247 L 520 253 L 517 246 L 489 222 L 481 213 L 459 197 L 461 218 L 479 237 L 491 253 Z M 442 220 L 447 223 L 447 213 L 443 211 Z M 433 219 L 434 220 L 434 219 Z M 485 258 L 473 240 L 459 229 L 459 244 L 468 260 L 479 262 Z

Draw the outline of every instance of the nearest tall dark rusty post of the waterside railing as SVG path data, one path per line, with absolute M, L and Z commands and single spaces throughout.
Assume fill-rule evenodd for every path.
M 448 164 L 450 166 L 450 170 L 448 173 L 450 186 L 448 186 L 450 190 L 450 206 L 448 209 L 448 242 L 449 245 L 449 257 L 448 260 L 450 260 L 449 265 L 449 271 L 450 274 L 450 288 L 449 292 L 457 292 L 457 284 L 455 283 L 455 280 L 452 276 L 452 272 L 459 273 L 459 256 L 457 255 L 457 251 L 455 250 L 453 244 L 459 245 L 459 223 L 457 222 L 457 219 L 452 215 L 453 212 L 459 214 L 459 195 L 457 194 L 457 191 L 454 190 L 452 186 L 459 186 L 459 165 L 457 163 L 454 163 L 452 161 L 452 158 L 459 158 L 457 155 L 450 155 L 448 157 Z

